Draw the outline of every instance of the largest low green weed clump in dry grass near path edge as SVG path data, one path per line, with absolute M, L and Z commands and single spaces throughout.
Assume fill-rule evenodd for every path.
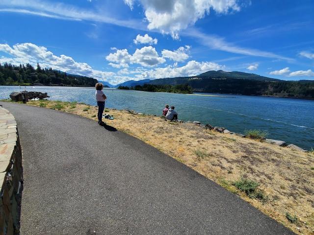
M 245 192 L 249 198 L 258 199 L 263 203 L 265 203 L 268 199 L 267 196 L 264 195 L 264 192 L 258 188 L 259 183 L 254 180 L 242 177 L 238 181 L 235 181 L 233 185 L 240 191 Z

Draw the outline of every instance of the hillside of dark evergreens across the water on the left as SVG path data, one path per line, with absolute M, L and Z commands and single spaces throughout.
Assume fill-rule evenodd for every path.
M 48 85 L 48 86 L 95 86 L 97 80 L 91 77 L 67 74 L 66 72 L 42 69 L 39 64 L 35 69 L 30 64 L 14 66 L 0 64 L 0 85 Z

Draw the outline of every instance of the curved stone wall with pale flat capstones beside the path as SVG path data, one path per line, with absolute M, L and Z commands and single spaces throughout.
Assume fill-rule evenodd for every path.
M 20 231 L 22 151 L 15 118 L 0 107 L 0 235 Z

